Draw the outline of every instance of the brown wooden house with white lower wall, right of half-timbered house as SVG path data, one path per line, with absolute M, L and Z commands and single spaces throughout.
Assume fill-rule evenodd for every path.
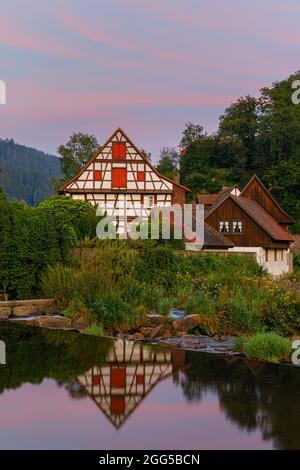
M 199 199 L 204 201 L 203 195 Z M 257 176 L 241 192 L 230 188 L 212 199 L 209 207 L 206 204 L 205 222 L 234 244 L 229 251 L 252 253 L 275 275 L 291 269 L 289 227 L 293 220 Z

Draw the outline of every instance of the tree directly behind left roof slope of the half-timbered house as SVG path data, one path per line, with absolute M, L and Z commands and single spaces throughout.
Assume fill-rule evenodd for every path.
M 57 150 L 61 156 L 61 170 L 65 178 L 69 179 L 76 175 L 99 147 L 93 135 L 73 133 L 67 144 L 60 145 Z

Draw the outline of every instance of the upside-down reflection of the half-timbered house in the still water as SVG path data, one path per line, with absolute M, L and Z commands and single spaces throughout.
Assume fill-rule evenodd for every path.
M 77 377 L 78 382 L 111 423 L 120 428 L 155 385 L 185 365 L 185 352 L 147 348 L 117 340 L 105 364 Z

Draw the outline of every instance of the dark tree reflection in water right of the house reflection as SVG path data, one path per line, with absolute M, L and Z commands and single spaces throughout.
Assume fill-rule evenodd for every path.
M 243 359 L 230 366 L 220 357 L 187 353 L 186 361 L 180 385 L 189 401 L 216 392 L 241 430 L 261 431 L 276 448 L 300 448 L 300 369 L 268 364 L 255 376 Z

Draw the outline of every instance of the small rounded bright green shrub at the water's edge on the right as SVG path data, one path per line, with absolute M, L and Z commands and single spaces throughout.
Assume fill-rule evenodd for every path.
M 262 361 L 277 362 L 291 357 L 291 341 L 276 333 L 259 333 L 247 338 L 242 349 L 247 357 Z

